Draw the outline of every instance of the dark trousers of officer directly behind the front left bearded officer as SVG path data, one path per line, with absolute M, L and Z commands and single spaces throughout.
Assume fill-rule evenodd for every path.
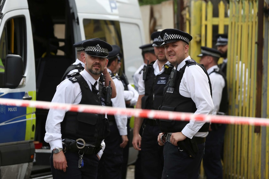
M 110 125 L 110 134 L 105 138 L 105 150 L 98 165 L 98 179 L 121 179 L 123 164 L 122 138 L 116 123 Z M 127 147 L 127 146 L 126 146 Z

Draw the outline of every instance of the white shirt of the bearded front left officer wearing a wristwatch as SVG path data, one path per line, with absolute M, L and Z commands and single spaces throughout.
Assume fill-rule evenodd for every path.
M 80 74 L 86 80 L 91 90 L 91 85 L 95 83 L 95 79 L 86 70 L 83 70 L 80 72 Z M 97 79 L 97 82 L 99 82 L 99 78 Z M 99 85 L 96 85 L 96 89 L 99 89 Z M 79 104 L 81 97 L 82 94 L 79 83 L 73 83 L 69 79 L 65 79 L 56 87 L 56 92 L 51 102 Z M 50 144 L 51 150 L 55 147 L 63 148 L 61 138 L 61 122 L 63 121 L 66 112 L 67 110 L 57 110 L 52 108 L 49 110 L 46 120 L 46 134 L 44 140 Z M 100 158 L 105 149 L 104 140 L 101 142 L 101 146 L 102 149 L 97 153 Z

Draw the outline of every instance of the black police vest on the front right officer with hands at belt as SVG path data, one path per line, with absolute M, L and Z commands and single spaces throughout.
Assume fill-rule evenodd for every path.
M 186 66 L 189 65 L 198 65 L 203 68 L 203 71 L 207 74 L 205 68 L 196 63 L 194 60 L 187 60 L 186 64 L 179 70 L 173 69 L 171 75 L 169 77 L 169 82 L 165 86 L 165 91 L 163 95 L 162 105 L 160 106 L 160 110 L 164 111 L 178 111 L 178 112 L 190 112 L 194 113 L 197 108 L 195 103 L 191 98 L 183 97 L 179 93 L 179 85 L 181 79 L 183 77 L 183 73 L 185 71 Z M 210 86 L 210 93 L 212 96 L 212 89 L 210 79 L 208 77 L 208 82 Z M 159 120 L 158 121 L 161 132 L 181 132 L 185 125 L 189 123 L 189 121 L 178 121 L 178 120 Z M 209 123 L 205 123 L 198 132 L 208 132 Z

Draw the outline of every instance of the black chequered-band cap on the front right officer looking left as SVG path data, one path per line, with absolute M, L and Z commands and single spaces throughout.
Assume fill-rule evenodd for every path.
M 189 42 L 193 39 L 191 35 L 178 29 L 164 29 L 163 31 L 161 31 L 160 36 L 164 40 L 164 43 L 162 43 L 162 45 L 176 42 L 179 40 L 182 40 L 189 44 Z

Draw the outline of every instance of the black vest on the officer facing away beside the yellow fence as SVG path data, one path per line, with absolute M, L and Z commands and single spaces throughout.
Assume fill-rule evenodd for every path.
M 227 80 L 226 80 L 224 73 L 222 71 L 220 71 L 218 68 L 215 68 L 214 71 L 211 73 L 214 73 L 214 72 L 220 74 L 224 78 L 224 81 L 225 81 L 225 86 L 222 90 L 222 96 L 221 96 L 221 101 L 220 101 L 219 110 L 218 110 L 218 113 L 220 112 L 219 114 L 223 115 L 228 110 Z M 209 73 L 208 75 L 210 75 L 211 73 Z

